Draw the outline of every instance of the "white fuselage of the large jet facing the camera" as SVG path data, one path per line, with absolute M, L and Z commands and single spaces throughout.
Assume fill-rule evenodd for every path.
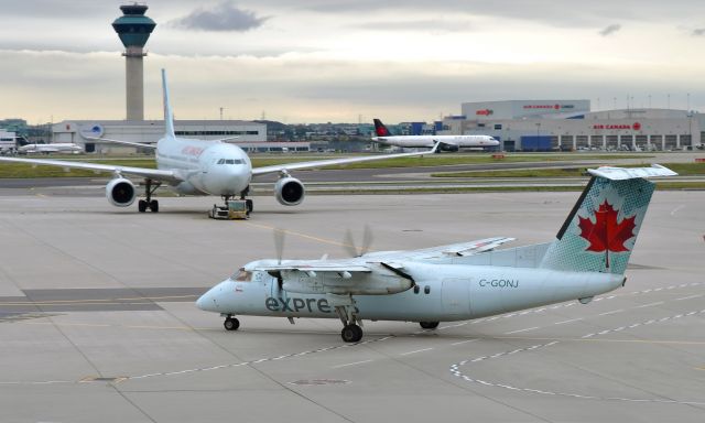
M 156 166 L 175 170 L 184 182 L 175 185 L 181 194 L 239 195 L 252 180 L 252 163 L 237 145 L 193 140 L 163 138 L 156 144 Z

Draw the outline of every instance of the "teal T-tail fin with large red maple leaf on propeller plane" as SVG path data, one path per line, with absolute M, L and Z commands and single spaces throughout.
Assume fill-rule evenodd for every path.
M 651 167 L 599 167 L 541 262 L 541 268 L 623 274 L 651 202 L 651 176 L 673 176 Z

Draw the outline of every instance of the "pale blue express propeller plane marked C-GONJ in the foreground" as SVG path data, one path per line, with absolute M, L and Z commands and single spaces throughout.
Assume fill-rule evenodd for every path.
M 346 343 L 362 321 L 465 321 L 578 300 L 623 286 L 660 166 L 599 167 L 552 242 L 495 250 L 512 238 L 345 260 L 258 260 L 198 299 L 204 311 L 236 315 L 339 318 Z M 280 254 L 281 257 L 281 254 Z

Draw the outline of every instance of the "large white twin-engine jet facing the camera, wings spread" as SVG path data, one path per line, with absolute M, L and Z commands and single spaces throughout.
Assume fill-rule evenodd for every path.
M 224 142 L 226 139 L 177 138 L 174 132 L 174 119 L 164 69 L 162 69 L 162 88 L 165 133 L 156 144 L 93 138 L 105 142 L 153 149 L 155 150 L 156 169 L 42 159 L 0 158 L 0 161 L 112 173 L 113 177 L 106 186 L 106 197 L 110 204 L 117 207 L 128 207 L 134 203 L 137 188 L 126 175 L 137 176 L 144 180 L 144 199 L 138 202 L 139 212 L 143 213 L 150 209 L 156 213 L 159 212 L 159 203 L 152 196 L 162 184 L 169 185 L 180 194 L 218 195 L 227 202 L 236 196 L 245 199 L 249 194 L 250 182 L 253 177 L 279 173 L 280 178 L 274 185 L 274 195 L 280 204 L 295 206 L 304 199 L 305 189 L 301 181 L 289 174 L 290 171 L 424 155 L 433 153 L 437 149 L 436 145 L 433 150 L 424 152 L 318 160 L 253 169 L 247 153 L 237 145 Z M 247 199 L 247 207 L 248 213 L 252 210 L 251 199 Z

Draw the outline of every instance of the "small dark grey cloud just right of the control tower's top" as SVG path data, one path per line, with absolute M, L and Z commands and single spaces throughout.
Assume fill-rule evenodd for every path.
M 212 9 L 199 8 L 188 15 L 172 21 L 175 26 L 200 31 L 249 31 L 259 28 L 269 17 L 258 17 L 254 12 L 239 9 L 230 1 L 224 1 Z

